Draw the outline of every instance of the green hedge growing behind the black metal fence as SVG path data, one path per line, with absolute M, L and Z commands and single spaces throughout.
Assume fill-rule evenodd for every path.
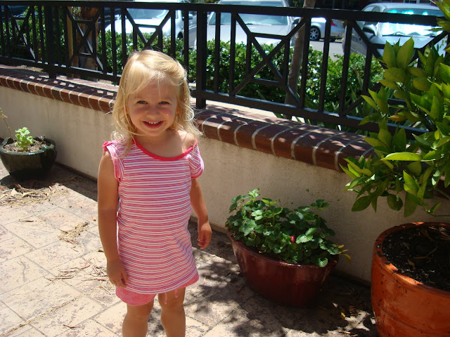
M 150 36 L 148 34 L 144 34 L 146 39 Z M 112 47 L 110 44 L 111 35 L 110 32 L 107 32 L 106 39 L 107 41 L 107 58 L 108 58 L 108 71 L 112 72 L 113 64 L 112 64 Z M 122 37 L 120 34 L 116 34 L 117 41 L 117 55 L 122 53 Z M 169 50 L 169 39 L 165 39 L 163 41 L 163 51 L 167 52 Z M 138 41 L 138 49 L 143 48 L 143 41 Z M 156 48 L 156 44 L 153 46 Z M 182 48 L 183 42 L 181 40 L 177 40 L 177 53 L 176 58 L 182 62 Z M 271 51 L 273 46 L 263 46 L 266 52 Z M 99 44 L 99 51 L 101 51 L 101 44 Z M 132 51 L 132 42 L 131 37 L 127 37 L 127 53 L 131 53 Z M 292 53 L 292 48 L 291 48 Z M 234 86 L 238 86 L 243 79 L 245 79 L 246 69 L 246 46 L 245 44 L 236 44 L 236 63 L 234 67 L 235 79 Z M 319 90 L 320 90 L 320 74 L 321 74 L 321 66 L 322 66 L 322 56 L 323 53 L 321 51 L 316 51 L 309 47 L 309 59 L 308 59 L 308 72 L 307 72 L 307 105 L 309 107 L 315 107 L 319 101 Z M 229 92 L 229 70 L 230 70 L 230 44 L 228 42 L 220 42 L 220 62 L 219 62 L 219 91 L 223 93 Z M 363 55 L 352 53 L 350 55 L 350 67 L 349 67 L 349 78 L 347 83 L 347 104 L 352 102 L 352 95 L 358 97 L 361 94 L 361 78 L 364 74 L 364 63 L 366 58 Z M 259 62 L 262 61 L 261 55 L 256 51 L 256 48 L 252 48 L 251 54 L 251 65 L 255 67 Z M 195 82 L 196 79 L 196 52 L 189 51 L 189 72 L 188 79 L 191 82 Z M 207 88 L 212 90 L 214 88 L 214 41 L 207 42 Z M 272 59 L 274 66 L 276 69 L 283 74 L 282 64 L 283 64 L 283 53 L 279 52 Z M 342 78 L 342 63 L 343 56 L 338 55 L 335 60 L 328 60 L 328 72 L 326 79 L 326 91 L 325 91 L 325 110 L 334 111 L 335 107 L 338 105 L 339 101 L 339 92 L 340 92 L 340 81 Z M 122 60 L 117 60 L 117 69 L 120 73 L 122 70 Z M 371 65 L 371 85 L 375 84 L 378 79 L 382 78 L 383 68 L 380 66 L 377 60 L 373 60 Z M 269 69 L 267 65 L 265 65 L 262 70 L 258 72 L 255 76 L 261 79 L 270 79 L 275 80 L 276 77 L 274 73 Z M 300 83 L 299 83 L 300 88 Z M 285 91 L 283 88 L 278 88 L 275 86 L 262 86 L 258 84 L 249 83 L 246 84 L 243 89 L 238 93 L 238 95 L 243 95 L 249 98 L 260 98 L 264 100 L 269 100 L 271 102 L 283 103 L 285 100 Z

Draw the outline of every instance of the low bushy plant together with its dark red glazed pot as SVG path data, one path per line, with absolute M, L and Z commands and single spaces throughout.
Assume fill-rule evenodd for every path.
M 281 305 L 307 305 L 345 250 L 328 237 L 321 211 L 328 203 L 287 209 L 259 197 L 259 189 L 233 198 L 226 220 L 238 265 L 251 289 Z M 316 210 L 316 212 L 312 210 Z M 286 296 L 288 294 L 288 296 Z

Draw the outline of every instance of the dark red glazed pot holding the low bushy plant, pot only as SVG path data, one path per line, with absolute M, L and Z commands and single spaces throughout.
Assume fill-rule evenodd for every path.
M 303 306 L 311 303 L 322 289 L 336 259 L 325 267 L 295 265 L 262 256 L 229 236 L 240 271 L 250 289 L 281 305 Z

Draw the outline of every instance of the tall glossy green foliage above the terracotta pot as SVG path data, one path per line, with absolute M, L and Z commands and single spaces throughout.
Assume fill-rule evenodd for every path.
M 450 33 L 450 0 L 436 4 L 445 16 L 437 23 Z M 369 205 L 376 211 L 378 197 L 386 197 L 391 209 L 404 209 L 405 217 L 418 206 L 436 215 L 441 203 L 429 204 L 428 200 L 436 194 L 450 199 L 442 188 L 450 184 L 450 44 L 446 51 L 439 55 L 432 46 L 425 53 L 418 52 L 418 65 L 412 62 L 412 39 L 403 46 L 385 45 L 382 87 L 364 96 L 373 113 L 362 123 L 376 121 L 380 126 L 378 133 L 365 138 L 375 153 L 368 158 L 347 158 L 347 168 L 342 166 L 352 178 L 346 189 L 358 193 L 352 211 Z M 388 122 L 397 128 L 392 131 Z M 399 126 L 404 122 L 425 132 L 409 140 Z

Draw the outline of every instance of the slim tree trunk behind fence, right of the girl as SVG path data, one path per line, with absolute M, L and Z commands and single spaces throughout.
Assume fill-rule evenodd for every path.
M 304 0 L 303 8 L 314 8 L 316 0 Z M 302 20 L 302 18 L 300 18 Z M 293 59 L 290 63 L 288 75 L 288 86 L 297 93 L 298 79 L 300 77 L 300 69 L 302 69 L 303 46 L 304 46 L 304 26 L 295 34 Z M 286 95 L 285 104 L 296 105 L 295 99 L 291 95 Z

